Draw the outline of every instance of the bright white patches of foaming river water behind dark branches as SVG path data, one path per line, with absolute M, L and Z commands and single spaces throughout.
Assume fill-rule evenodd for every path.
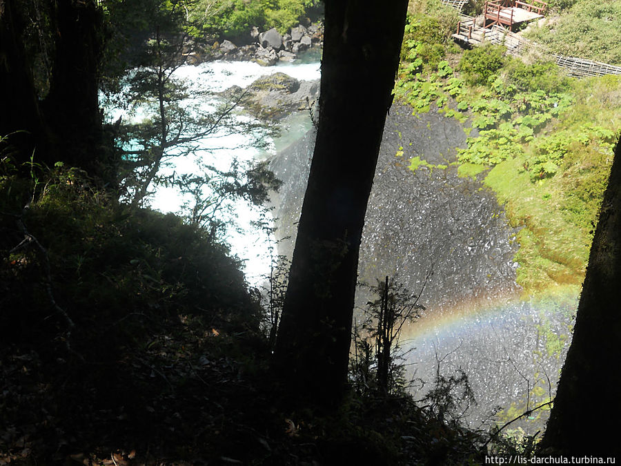
M 285 72 L 296 79 L 319 79 L 319 64 L 316 61 L 304 60 L 281 64 L 266 68 L 249 61 L 209 61 L 197 66 L 181 66 L 175 70 L 174 77 L 188 85 L 190 97 L 182 102 L 186 108 L 197 106 L 201 112 L 215 111 L 223 102 L 218 94 L 231 86 L 245 87 L 253 81 L 274 72 Z M 205 99 L 204 95 L 209 97 Z M 122 117 L 125 122 L 140 121 L 148 117 L 146 108 L 135 108 L 133 112 L 115 108 L 107 109 L 108 120 L 116 121 Z M 249 120 L 251 117 L 244 114 L 243 108 L 236 115 L 239 121 Z M 162 175 L 180 176 L 184 174 L 200 173 L 199 166 L 206 163 L 226 170 L 233 159 L 244 164 L 254 163 L 270 157 L 302 137 L 308 128 L 311 128 L 311 119 L 308 113 L 295 113 L 286 117 L 279 125 L 282 135 L 276 139 L 265 138 L 268 142 L 267 152 L 251 146 L 253 135 L 244 133 L 230 134 L 227 131 L 217 130 L 215 134 L 197 142 L 197 151 L 186 157 L 176 157 L 172 163 L 161 167 Z M 155 194 L 148 200 L 148 205 L 162 212 L 173 212 L 184 215 L 184 203 L 191 202 L 189 196 L 184 196 L 179 189 L 173 186 L 159 186 Z M 230 202 L 234 215 L 223 214 L 224 220 L 231 226 L 227 231 L 226 240 L 231 246 L 231 252 L 244 261 L 246 278 L 250 284 L 258 285 L 270 269 L 268 255 L 268 237 L 266 233 L 257 231 L 251 224 L 261 220 L 261 209 L 250 206 L 244 201 Z

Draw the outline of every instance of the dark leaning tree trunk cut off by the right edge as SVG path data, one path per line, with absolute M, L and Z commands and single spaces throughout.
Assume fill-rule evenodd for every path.
M 619 456 L 621 419 L 621 139 L 542 452 Z

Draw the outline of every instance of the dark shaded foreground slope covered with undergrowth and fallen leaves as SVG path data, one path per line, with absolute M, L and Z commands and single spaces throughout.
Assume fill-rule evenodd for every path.
M 28 165 L 0 175 L 0 464 L 482 458 L 484 432 L 447 423 L 444 395 L 282 405 L 259 295 L 226 246 L 83 171 Z

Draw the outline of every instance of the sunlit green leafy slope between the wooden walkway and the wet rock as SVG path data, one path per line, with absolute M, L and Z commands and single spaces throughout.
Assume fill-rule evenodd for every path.
M 421 14 L 424 3 L 417 2 L 420 8 L 413 13 Z M 589 14 L 605 17 L 617 2 L 600 8 L 578 1 L 576 11 L 587 3 Z M 425 30 L 431 24 L 437 26 L 427 20 L 416 27 Z M 416 27 L 408 31 L 412 42 L 404 41 L 395 97 L 415 112 L 436 104 L 447 117 L 470 117 L 479 129 L 458 151 L 458 173 L 476 176 L 489 170 L 485 183 L 505 204 L 512 224 L 523 227 L 515 260 L 524 289 L 579 284 L 607 182 L 614 130 L 621 126 L 619 77 L 569 79 L 555 64 L 504 57 L 500 46 L 466 50 L 458 71 L 451 72 L 448 59 L 426 56 L 437 63 L 429 66 L 420 56 L 420 43 L 440 43 L 440 38 L 429 31 L 431 39 L 423 39 Z M 618 41 L 602 47 L 611 43 Z M 423 165 L 420 157 L 411 159 L 411 168 Z

